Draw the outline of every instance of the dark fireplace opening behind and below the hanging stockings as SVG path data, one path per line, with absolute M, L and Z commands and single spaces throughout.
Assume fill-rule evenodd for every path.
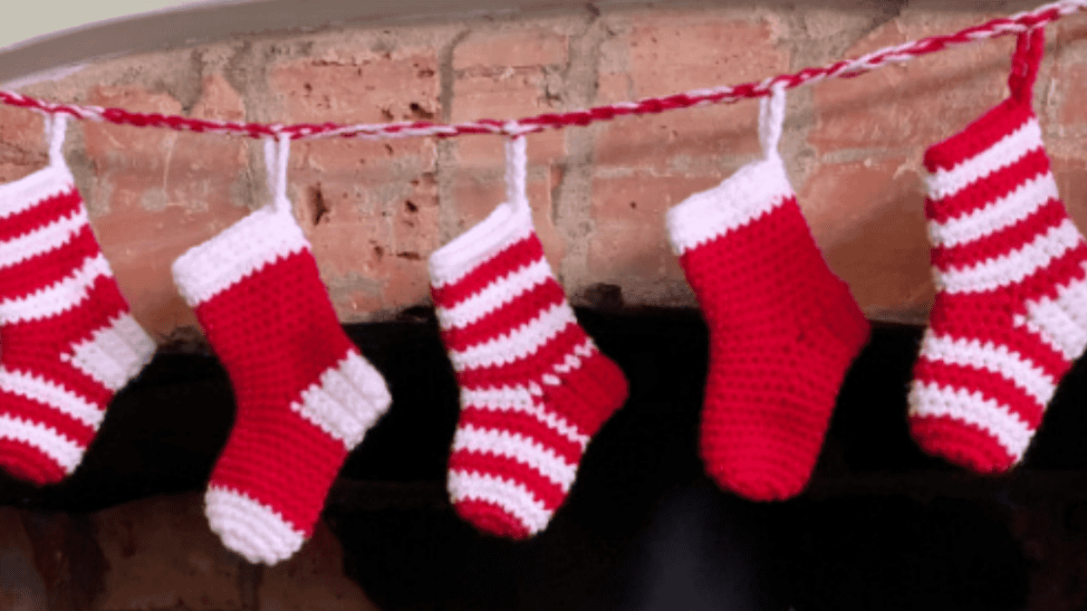
M 201 492 L 234 417 L 199 339 L 164 346 L 65 482 L 0 476 L 0 609 L 1003 610 L 1087 604 L 1085 364 L 1000 477 L 922 453 L 907 391 L 922 331 L 876 325 L 808 488 L 750 502 L 704 475 L 697 311 L 579 310 L 630 398 L 537 537 L 486 536 L 445 489 L 457 386 L 433 311 L 347 332 L 393 404 L 348 459 L 298 558 L 216 547 Z M 273 338 L 274 339 L 274 338 Z M 191 548 L 191 549 L 190 549 Z

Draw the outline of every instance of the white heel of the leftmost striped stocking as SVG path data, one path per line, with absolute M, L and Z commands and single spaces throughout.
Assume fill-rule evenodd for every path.
M 116 392 L 153 354 L 154 340 L 125 312 L 73 346 L 71 353 L 62 353 L 61 360 Z

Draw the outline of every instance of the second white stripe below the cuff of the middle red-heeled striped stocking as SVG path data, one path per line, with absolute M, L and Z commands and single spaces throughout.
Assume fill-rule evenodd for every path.
M 500 335 L 464 350 L 450 350 L 449 360 L 458 372 L 512 363 L 535 353 L 567 325 L 576 323 L 574 311 L 563 300 L 544 310 L 538 316 L 513 329 L 509 335 Z

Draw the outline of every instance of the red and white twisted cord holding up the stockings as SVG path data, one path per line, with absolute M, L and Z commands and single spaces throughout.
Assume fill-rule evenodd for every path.
M 637 101 L 604 104 L 570 112 L 544 113 L 536 116 L 508 121 L 480 119 L 463 123 L 413 121 L 357 125 L 342 125 L 330 122 L 296 123 L 292 125 L 276 123 L 268 125 L 262 123 L 211 121 L 161 113 L 132 112 L 117 108 L 61 104 L 4 90 L 0 90 L 0 102 L 47 113 L 66 113 L 76 119 L 116 123 L 118 125 L 165 127 L 168 129 L 198 133 L 235 134 L 249 136 L 250 138 L 277 137 L 282 134 L 288 135 L 291 140 L 330 138 L 334 136 L 342 138 L 384 139 L 420 136 L 445 138 L 461 134 L 532 134 L 545 129 L 560 129 L 571 125 L 588 125 L 598 121 L 611 121 L 620 116 L 655 114 L 667 110 L 732 103 L 747 98 L 760 98 L 770 95 L 771 88 L 777 84 L 784 84 L 786 89 L 791 89 L 828 78 L 851 78 L 877 67 L 907 62 L 913 58 L 942 51 L 950 47 L 1026 32 L 1027 29 L 1040 27 L 1057 21 L 1064 15 L 1080 11 L 1084 8 L 1087 8 L 1087 0 L 1061 0 L 1044 4 L 1032 11 L 1025 11 L 1008 17 L 998 17 L 954 34 L 929 36 L 928 38 L 886 47 L 859 58 L 840 60 L 819 67 L 805 67 L 794 74 L 780 74 L 761 82 L 742 83 L 740 85 L 710 89 L 694 89 L 662 98 L 645 98 Z

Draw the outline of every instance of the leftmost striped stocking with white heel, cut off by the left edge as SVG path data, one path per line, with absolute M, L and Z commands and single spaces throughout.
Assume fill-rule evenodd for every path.
M 65 124 L 48 167 L 0 187 L 0 465 L 39 485 L 75 470 L 154 352 L 87 223 Z

